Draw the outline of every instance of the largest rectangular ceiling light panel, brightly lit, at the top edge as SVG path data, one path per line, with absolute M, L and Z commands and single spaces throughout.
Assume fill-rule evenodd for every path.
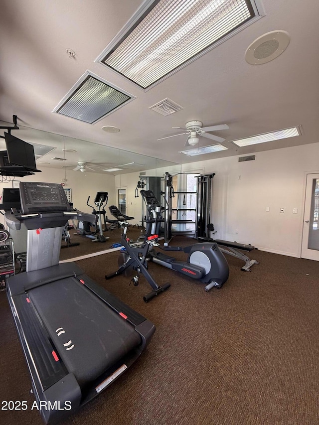
M 254 0 L 149 0 L 97 58 L 144 89 L 258 16 Z

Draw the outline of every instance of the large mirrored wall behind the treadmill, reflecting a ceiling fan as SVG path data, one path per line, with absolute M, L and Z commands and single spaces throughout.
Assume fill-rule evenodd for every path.
M 1 126 L 7 123 L 1 123 Z M 1 130 L 0 135 L 3 136 Z M 109 218 L 109 206 L 117 206 L 124 214 L 134 217 L 132 223 L 141 225 L 143 220 L 143 201 L 139 182 L 146 177 L 164 176 L 165 172 L 178 173 L 181 165 L 143 154 L 116 149 L 84 140 L 19 126 L 11 134 L 25 142 L 32 143 L 36 155 L 36 166 L 41 172 L 23 177 L 24 181 L 62 183 L 74 208 L 92 212 L 95 196 L 99 191 L 108 193 L 105 209 Z M 0 139 L 0 150 L 5 150 L 5 141 Z M 17 187 L 20 178 L 5 179 L 3 187 Z M 158 196 L 159 194 L 157 194 Z M 74 223 L 76 226 L 77 223 Z M 70 232 L 71 233 L 71 232 Z M 92 252 L 108 249 L 118 242 L 110 236 L 107 243 L 91 243 L 71 233 L 71 242 L 91 246 Z M 79 250 L 79 249 L 78 249 Z M 61 250 L 60 258 L 70 258 Z M 69 250 L 71 252 L 71 250 Z M 80 252 L 80 251 L 78 251 Z

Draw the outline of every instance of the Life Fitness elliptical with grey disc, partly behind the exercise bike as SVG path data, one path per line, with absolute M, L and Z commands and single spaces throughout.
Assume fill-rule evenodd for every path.
M 160 224 L 163 222 L 161 213 L 162 208 L 156 199 L 152 190 L 141 190 L 141 195 L 149 212 L 146 220 L 146 237 L 158 234 Z M 188 247 L 160 247 L 163 251 L 182 251 L 188 254 L 186 261 L 177 261 L 161 252 L 150 250 L 148 260 L 160 264 L 168 269 L 175 270 L 189 278 L 207 283 L 205 290 L 209 291 L 212 287 L 220 288 L 228 279 L 228 263 L 219 250 L 216 243 L 197 243 Z

